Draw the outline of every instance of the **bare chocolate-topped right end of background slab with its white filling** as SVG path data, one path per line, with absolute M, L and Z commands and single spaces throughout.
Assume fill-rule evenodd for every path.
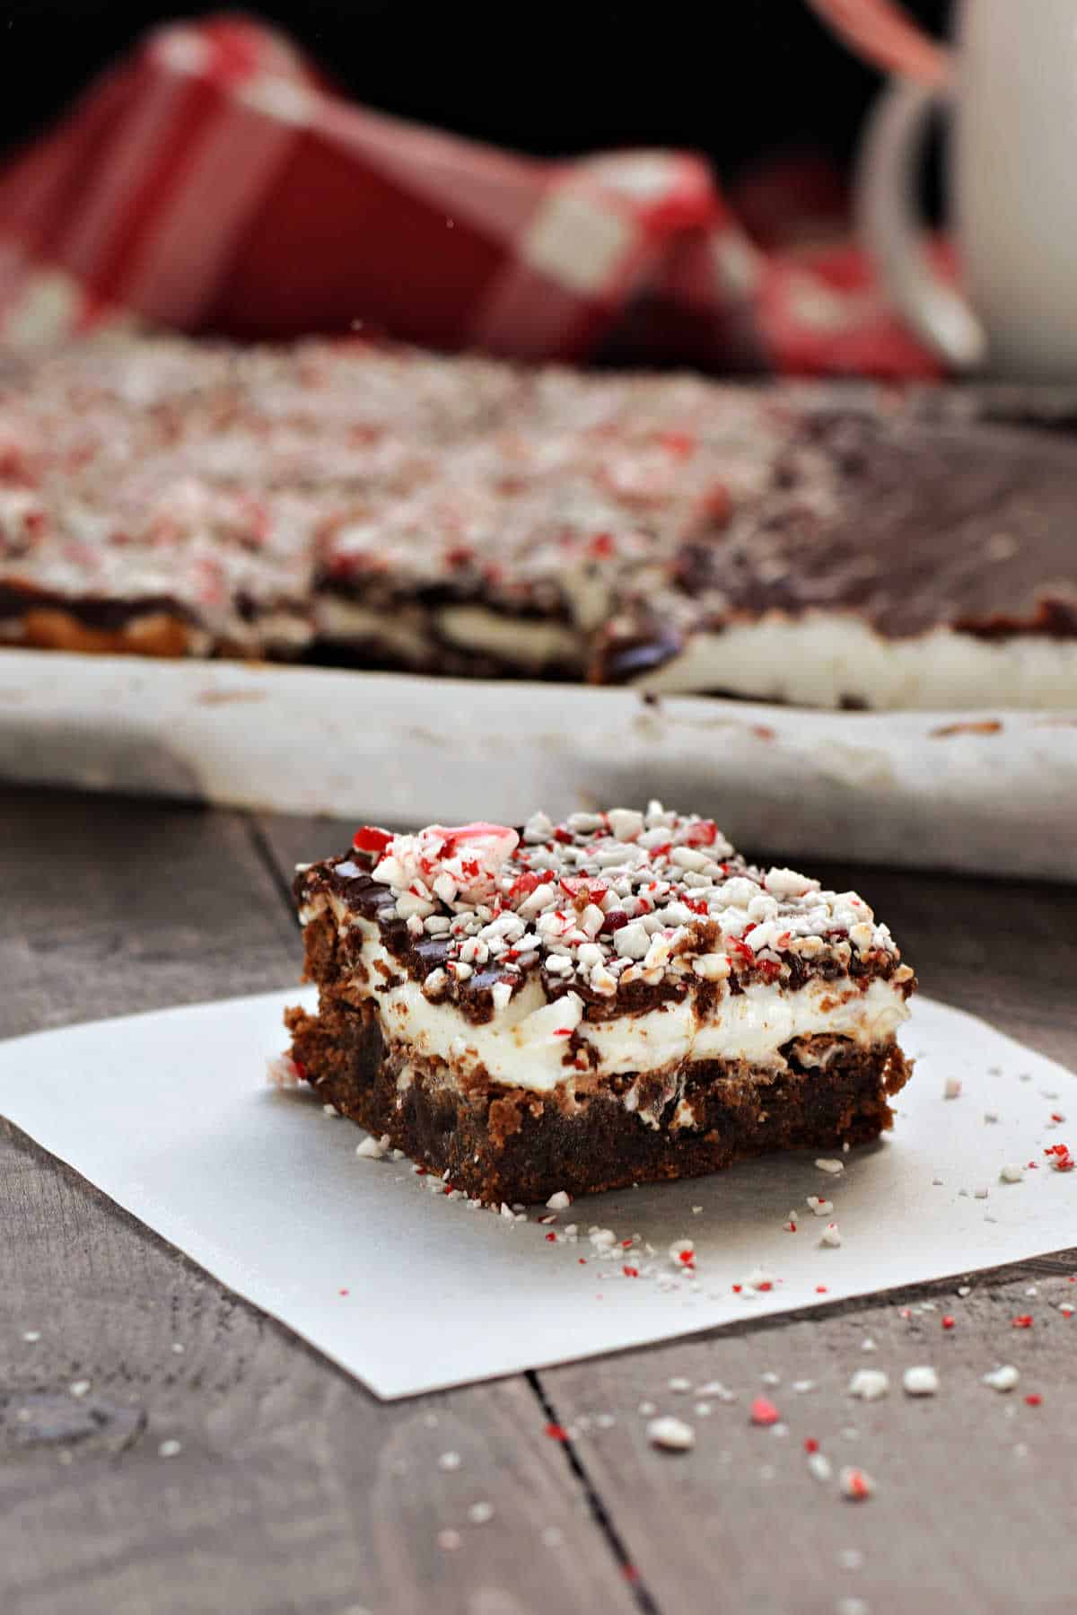
M 601 682 L 820 706 L 1077 699 L 1077 452 L 820 397 L 767 494 L 602 633 Z

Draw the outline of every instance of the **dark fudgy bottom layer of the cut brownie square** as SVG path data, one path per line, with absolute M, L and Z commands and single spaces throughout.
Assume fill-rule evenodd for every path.
M 896 1042 L 872 1050 L 803 1040 L 830 1058 L 788 1069 L 698 1061 L 683 1085 L 615 1077 L 589 1090 L 536 1093 L 475 1084 L 463 1092 L 439 1061 L 389 1048 L 375 1006 L 321 992 L 321 1013 L 289 1009 L 292 1058 L 323 1100 L 484 1203 L 547 1200 L 627 1184 L 699 1177 L 775 1150 L 865 1143 L 891 1126 L 888 1097 L 909 1079 Z M 635 1108 L 625 1095 L 635 1090 Z M 691 1111 L 693 1126 L 685 1124 Z M 643 1113 L 643 1114 L 641 1114 Z M 646 1119 L 644 1119 L 646 1116 Z

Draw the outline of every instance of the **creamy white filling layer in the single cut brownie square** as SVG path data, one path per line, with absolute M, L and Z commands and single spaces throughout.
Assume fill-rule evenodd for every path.
M 394 975 L 399 964 L 375 927 L 331 901 L 337 924 L 363 933 L 362 958 L 370 984 L 383 980 L 375 966 Z M 312 904 L 304 924 L 316 912 Z M 568 1034 L 578 1030 L 596 1050 L 596 1076 L 647 1074 L 670 1064 L 699 1059 L 746 1059 L 754 1066 L 783 1066 L 782 1047 L 798 1037 L 846 1037 L 870 1047 L 891 1037 L 909 1011 L 899 987 L 874 980 L 867 988 L 849 977 L 807 982 L 799 992 L 752 984 L 743 993 L 725 993 L 717 1013 L 699 1021 L 693 995 L 681 1003 L 635 1016 L 583 1021 L 583 1000 L 567 993 L 547 1001 L 538 975 L 530 975 L 507 1008 L 481 1026 L 468 1021 L 454 1003 L 431 1003 L 421 984 L 410 977 L 396 987 L 370 987 L 384 1037 L 410 1053 L 447 1061 L 460 1076 L 478 1066 L 492 1082 L 551 1093 L 575 1084 L 580 1072 L 564 1064 Z

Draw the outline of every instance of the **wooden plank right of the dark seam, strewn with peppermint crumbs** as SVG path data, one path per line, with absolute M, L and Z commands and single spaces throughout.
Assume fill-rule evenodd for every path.
M 859 1597 L 870 1615 L 1061 1612 L 1072 1609 L 1077 1576 L 1069 1525 L 1077 1510 L 1077 1318 L 1050 1302 L 1075 1295 L 1077 1286 L 1062 1273 L 1043 1276 L 1059 1266 L 1035 1263 L 1003 1286 L 972 1279 L 966 1298 L 953 1286 L 935 1287 L 823 1319 L 744 1326 L 547 1370 L 543 1387 L 570 1429 L 581 1416 L 617 1420 L 610 1429 L 591 1423 L 573 1445 L 662 1609 L 835 1615 L 840 1599 Z M 1077 1271 L 1077 1252 L 1067 1271 Z M 901 1316 L 924 1298 L 938 1310 Z M 1020 1313 L 1033 1316 L 1027 1331 L 1011 1326 Z M 949 1331 L 945 1315 L 956 1319 Z M 874 1352 L 862 1350 L 865 1339 Z M 940 1391 L 914 1400 L 901 1376 L 924 1363 L 938 1371 Z M 999 1363 L 1022 1373 L 1009 1395 L 980 1382 Z M 848 1395 L 851 1374 L 865 1366 L 890 1376 L 883 1400 Z M 780 1384 L 764 1382 L 770 1373 Z M 680 1378 L 693 1387 L 722 1381 L 736 1400 L 677 1394 L 670 1379 Z M 814 1389 L 796 1392 L 798 1381 Z M 1029 1407 L 1025 1392 L 1043 1403 Z M 757 1395 L 773 1400 L 788 1433 L 751 1424 Z M 704 1416 L 694 1412 L 701 1400 L 710 1405 Z M 641 1403 L 688 1420 L 694 1450 L 654 1450 Z M 806 1439 L 833 1463 L 825 1484 L 809 1474 Z M 840 1495 L 841 1465 L 875 1479 L 869 1502 Z

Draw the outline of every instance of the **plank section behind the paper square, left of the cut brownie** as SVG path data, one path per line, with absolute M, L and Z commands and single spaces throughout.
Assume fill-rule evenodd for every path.
M 241 814 L 6 790 L 0 872 L 0 1037 L 295 979 Z

